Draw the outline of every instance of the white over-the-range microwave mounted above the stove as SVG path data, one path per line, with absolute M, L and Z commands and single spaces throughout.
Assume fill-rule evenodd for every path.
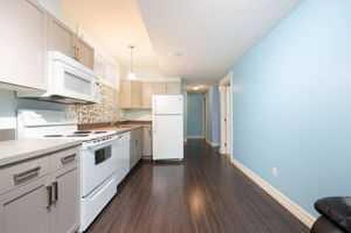
M 61 52 L 48 52 L 48 71 L 44 94 L 19 97 L 62 104 L 94 104 L 100 100 L 95 73 Z

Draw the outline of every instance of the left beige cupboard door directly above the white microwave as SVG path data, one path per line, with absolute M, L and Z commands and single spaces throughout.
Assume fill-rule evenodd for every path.
M 74 58 L 74 33 L 55 17 L 48 16 L 48 50 Z

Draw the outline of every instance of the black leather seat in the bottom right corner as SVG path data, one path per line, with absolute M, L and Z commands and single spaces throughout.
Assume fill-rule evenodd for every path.
M 326 197 L 314 203 L 322 216 L 313 224 L 311 233 L 351 232 L 351 197 Z

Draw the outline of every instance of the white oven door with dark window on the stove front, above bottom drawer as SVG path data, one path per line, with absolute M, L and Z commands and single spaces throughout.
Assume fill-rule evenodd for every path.
M 98 146 L 82 149 L 80 161 L 81 197 L 86 197 L 114 174 L 114 142 L 111 139 Z

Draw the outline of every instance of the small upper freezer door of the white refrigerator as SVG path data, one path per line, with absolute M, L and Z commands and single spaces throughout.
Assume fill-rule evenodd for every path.
M 183 114 L 182 95 L 154 95 L 152 104 L 153 115 Z

